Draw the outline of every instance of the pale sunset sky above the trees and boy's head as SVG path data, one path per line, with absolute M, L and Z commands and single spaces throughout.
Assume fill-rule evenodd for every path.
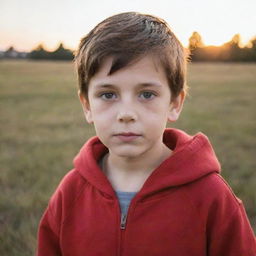
M 0 0 L 0 50 L 30 51 L 40 43 L 76 49 L 82 36 L 110 15 L 138 11 L 165 19 L 184 46 L 193 31 L 206 45 L 239 33 L 256 36 L 255 0 Z

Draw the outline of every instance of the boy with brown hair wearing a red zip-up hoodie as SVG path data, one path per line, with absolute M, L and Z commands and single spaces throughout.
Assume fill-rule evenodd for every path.
M 38 255 L 255 256 L 207 137 L 165 129 L 186 91 L 186 53 L 168 25 L 112 16 L 81 40 L 76 65 L 97 137 L 51 198 Z

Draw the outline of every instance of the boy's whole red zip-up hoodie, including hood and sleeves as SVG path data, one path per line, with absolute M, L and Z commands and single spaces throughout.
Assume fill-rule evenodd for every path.
M 38 232 L 38 256 L 255 256 L 242 202 L 219 175 L 206 136 L 167 129 L 173 154 L 132 199 L 121 225 L 119 202 L 90 139 L 52 196 Z

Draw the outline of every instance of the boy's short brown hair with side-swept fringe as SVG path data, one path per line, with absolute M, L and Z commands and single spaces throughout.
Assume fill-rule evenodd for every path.
M 87 98 L 104 58 L 113 57 L 110 75 L 149 53 L 159 58 L 172 98 L 177 97 L 186 89 L 187 52 L 164 20 L 137 12 L 111 16 L 81 39 L 75 56 L 80 91 Z

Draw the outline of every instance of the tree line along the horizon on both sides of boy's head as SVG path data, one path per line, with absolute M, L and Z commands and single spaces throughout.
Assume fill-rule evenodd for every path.
M 190 59 L 195 61 L 222 61 L 222 62 L 256 62 L 256 37 L 245 46 L 241 47 L 239 34 L 221 45 L 206 46 L 198 32 L 193 32 L 189 38 Z M 13 47 L 0 53 L 0 58 L 29 58 L 34 60 L 73 60 L 74 53 L 66 49 L 62 43 L 55 51 L 47 51 L 40 44 L 31 52 L 18 52 Z

